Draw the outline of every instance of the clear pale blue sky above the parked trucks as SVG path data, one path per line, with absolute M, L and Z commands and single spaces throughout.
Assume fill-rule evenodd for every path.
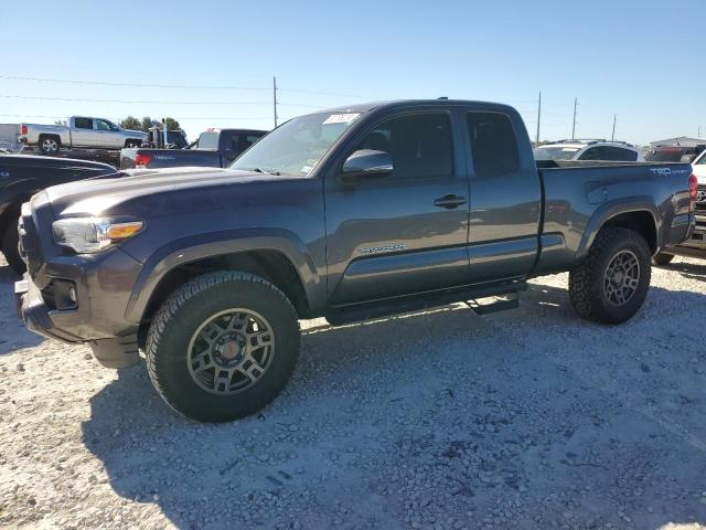
M 577 137 L 610 137 L 614 114 L 622 140 L 706 137 L 705 21 L 704 0 L 3 2 L 0 121 L 271 128 L 276 75 L 282 119 L 449 96 L 514 105 L 534 138 L 542 91 L 543 139 L 570 137 L 575 97 Z

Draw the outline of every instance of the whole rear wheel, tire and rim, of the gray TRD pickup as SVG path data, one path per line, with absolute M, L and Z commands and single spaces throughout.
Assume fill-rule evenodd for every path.
M 650 247 L 638 232 L 601 229 L 586 259 L 569 273 L 569 298 L 576 311 L 602 324 L 630 319 L 650 288 Z

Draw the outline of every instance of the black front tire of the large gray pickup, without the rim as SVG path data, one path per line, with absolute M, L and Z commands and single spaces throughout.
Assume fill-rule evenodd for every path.
M 199 326 L 233 307 L 264 316 L 275 349 L 269 368 L 252 386 L 216 395 L 192 378 L 189 344 Z M 248 273 L 208 273 L 179 287 L 154 315 L 147 337 L 147 369 L 157 392 L 176 413 L 199 422 L 231 422 L 259 411 L 281 392 L 299 359 L 300 342 L 297 311 L 275 285 Z

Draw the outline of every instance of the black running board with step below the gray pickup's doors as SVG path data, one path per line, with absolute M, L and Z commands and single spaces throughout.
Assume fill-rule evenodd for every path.
M 514 309 L 520 305 L 518 294 L 527 290 L 525 280 L 495 283 L 481 286 L 464 286 L 460 288 L 442 289 L 420 293 L 413 296 L 400 296 L 346 306 L 334 306 L 324 315 L 329 324 L 341 326 L 375 318 L 384 318 L 402 312 L 420 311 L 438 306 L 446 306 L 458 301 L 466 301 L 479 315 Z M 493 296 L 505 296 L 506 300 L 499 300 L 488 305 L 477 300 Z M 469 303 L 471 300 L 471 303 Z M 474 304 L 474 305 L 473 305 Z

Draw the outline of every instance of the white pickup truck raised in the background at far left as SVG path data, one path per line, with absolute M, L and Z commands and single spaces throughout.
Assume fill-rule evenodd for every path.
M 20 124 L 20 141 L 51 155 L 61 148 L 122 149 L 140 147 L 147 132 L 122 129 L 104 118 L 72 116 L 68 126 Z

